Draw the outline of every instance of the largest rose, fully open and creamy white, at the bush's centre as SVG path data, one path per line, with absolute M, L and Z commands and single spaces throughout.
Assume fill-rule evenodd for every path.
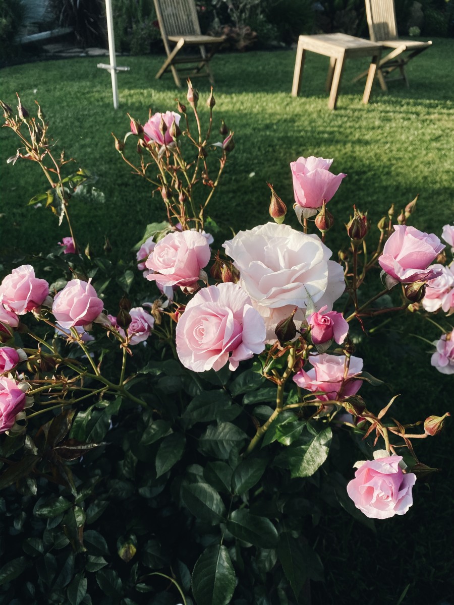
M 265 319 L 268 339 L 276 339 L 277 322 L 291 315 L 295 306 L 302 310 L 295 319 L 302 321 L 308 306 L 331 311 L 345 289 L 342 267 L 328 260 L 331 250 L 317 235 L 286 224 L 266 223 L 240 231 L 223 247 L 240 272 L 240 286 Z

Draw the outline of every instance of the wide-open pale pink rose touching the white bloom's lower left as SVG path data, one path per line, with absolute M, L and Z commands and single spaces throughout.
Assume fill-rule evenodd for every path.
M 189 370 L 217 371 L 227 362 L 236 370 L 243 359 L 262 353 L 265 336 L 265 324 L 251 299 L 229 282 L 203 288 L 188 302 L 177 323 L 177 353 Z

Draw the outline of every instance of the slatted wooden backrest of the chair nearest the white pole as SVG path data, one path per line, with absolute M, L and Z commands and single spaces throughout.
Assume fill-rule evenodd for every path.
M 163 38 L 200 36 L 194 0 L 154 0 L 154 5 Z

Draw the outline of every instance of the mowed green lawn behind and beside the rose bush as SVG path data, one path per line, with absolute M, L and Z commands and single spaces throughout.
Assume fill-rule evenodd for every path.
M 364 80 L 352 83 L 367 60 L 347 62 L 335 112 L 327 109 L 326 57 L 308 53 L 302 96 L 297 99 L 290 96 L 294 51 L 214 57 L 215 123 L 225 119 L 236 142 L 209 208 L 220 226 L 216 243 L 220 246 L 231 235 L 230 227 L 239 231 L 268 220 L 266 181 L 273 183 L 292 214 L 289 163 L 301 155 L 333 157 L 333 171 L 348 175 L 329 206 L 336 221 L 327 237 L 333 258 L 339 247 L 346 246 L 343 225 L 354 204 L 367 209 L 375 225 L 392 203 L 399 211 L 419 194 L 411 224 L 440 235 L 442 225 L 452 223 L 454 215 L 454 41 L 433 42 L 409 64 L 410 88 L 399 81 L 383 93 L 376 83 L 367 106 L 361 103 Z M 127 111 L 143 123 L 149 107 L 153 112 L 175 110 L 174 99 L 185 100 L 186 91 L 177 90 L 171 76 L 154 79 L 162 60 L 119 58 L 119 64 L 129 65 L 131 71 L 118 76 L 117 111 L 112 106 L 110 77 L 96 68 L 97 59 L 42 62 L 0 72 L 0 98 L 13 104 L 18 91 L 29 110 L 39 100 L 57 148 L 76 158 L 75 168 L 88 168 L 97 177 L 104 204 L 74 199 L 71 206 L 81 244 L 90 243 L 100 252 L 108 237 L 112 257 L 126 261 L 132 258 L 129 250 L 146 224 L 162 220 L 163 208 L 160 196 L 153 197 L 146 183 L 130 174 L 114 150 L 110 132 L 121 137 L 128 130 Z M 208 81 L 194 83 L 206 116 Z M 215 134 L 212 140 L 220 138 Z M 18 146 L 11 131 L 0 131 L 0 143 L 0 254 L 8 262 L 33 261 L 33 253 L 51 249 L 68 230 L 58 227 L 50 211 L 27 207 L 33 195 L 47 188 L 44 175 L 30 162 L 5 163 Z M 296 225 L 292 217 L 289 222 Z M 371 247 L 377 238 L 375 230 Z M 438 330 L 415 316 L 397 323 L 401 330 L 390 332 L 386 326 L 358 345 L 366 369 L 390 384 L 389 397 L 386 390 L 375 395 L 370 389 L 368 396 L 378 406 L 387 402 L 386 397 L 401 393 L 392 416 L 409 421 L 452 411 L 452 377 L 430 367 L 429 345 L 408 338 L 416 333 L 430 341 L 438 337 Z M 377 523 L 376 535 L 335 508 L 328 509 L 331 515 L 324 515 L 315 531 L 309 531 L 326 569 L 326 584 L 313 586 L 314 604 L 396 605 L 407 586 L 403 605 L 452 601 L 451 441 L 449 427 L 440 437 L 415 443 L 421 461 L 442 468 L 442 473 L 430 487 L 415 489 L 415 505 L 407 515 Z

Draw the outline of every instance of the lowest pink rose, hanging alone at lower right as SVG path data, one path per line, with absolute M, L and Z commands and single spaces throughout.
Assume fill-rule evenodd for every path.
M 402 472 L 402 456 L 367 460 L 347 485 L 347 494 L 366 517 L 387 519 L 404 515 L 413 504 L 416 475 Z

